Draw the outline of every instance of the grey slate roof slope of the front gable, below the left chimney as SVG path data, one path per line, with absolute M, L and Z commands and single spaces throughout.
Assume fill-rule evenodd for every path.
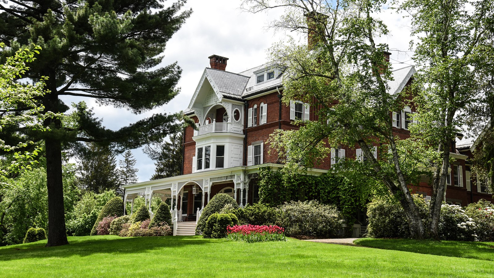
M 242 99 L 242 93 L 250 77 L 211 68 L 206 68 L 206 71 L 218 88 L 218 91 L 224 96 Z

